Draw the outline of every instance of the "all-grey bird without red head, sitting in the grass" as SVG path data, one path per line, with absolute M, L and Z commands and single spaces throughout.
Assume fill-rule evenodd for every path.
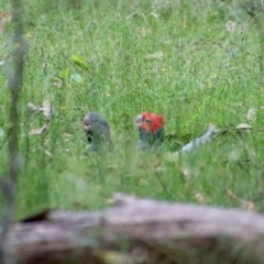
M 110 124 L 101 114 L 97 112 L 86 114 L 84 130 L 91 150 L 99 151 L 105 143 L 112 146 Z

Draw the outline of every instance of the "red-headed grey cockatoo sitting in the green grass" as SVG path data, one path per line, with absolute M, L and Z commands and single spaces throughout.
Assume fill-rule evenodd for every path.
M 160 150 L 165 139 L 165 119 L 163 116 L 142 112 L 135 119 L 140 132 L 138 147 L 142 150 Z

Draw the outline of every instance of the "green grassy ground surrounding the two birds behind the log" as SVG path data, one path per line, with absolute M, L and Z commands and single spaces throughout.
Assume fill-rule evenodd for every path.
M 30 48 L 20 106 L 18 216 L 46 207 L 98 209 L 118 191 L 222 207 L 238 207 L 245 199 L 263 211 L 257 199 L 264 187 L 262 15 L 253 20 L 242 1 L 74 2 L 24 1 Z M 9 28 L 1 35 L 3 45 Z M 9 92 L 2 73 L 4 132 Z M 45 99 L 55 109 L 51 129 L 29 135 L 45 120 L 29 113 L 28 103 Z M 251 108 L 256 117 L 249 121 Z M 81 120 L 90 110 L 109 120 L 116 147 L 84 158 Z M 163 153 L 135 150 L 133 122 L 142 111 L 165 116 Z M 168 158 L 167 153 L 200 136 L 210 122 L 218 128 L 248 122 L 253 130 L 241 135 L 231 131 L 184 158 Z M 1 141 L 4 169 L 4 134 Z

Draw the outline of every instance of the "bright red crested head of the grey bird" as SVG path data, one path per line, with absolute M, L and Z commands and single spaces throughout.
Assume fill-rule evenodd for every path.
M 143 112 L 136 117 L 135 123 L 139 129 L 146 132 L 155 133 L 164 127 L 165 119 L 163 116 L 151 112 Z

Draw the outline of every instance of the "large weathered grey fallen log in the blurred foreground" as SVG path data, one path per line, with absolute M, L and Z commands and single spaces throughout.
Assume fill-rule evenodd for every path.
M 20 264 L 262 264 L 264 217 L 117 195 L 103 211 L 15 223 L 8 245 Z

